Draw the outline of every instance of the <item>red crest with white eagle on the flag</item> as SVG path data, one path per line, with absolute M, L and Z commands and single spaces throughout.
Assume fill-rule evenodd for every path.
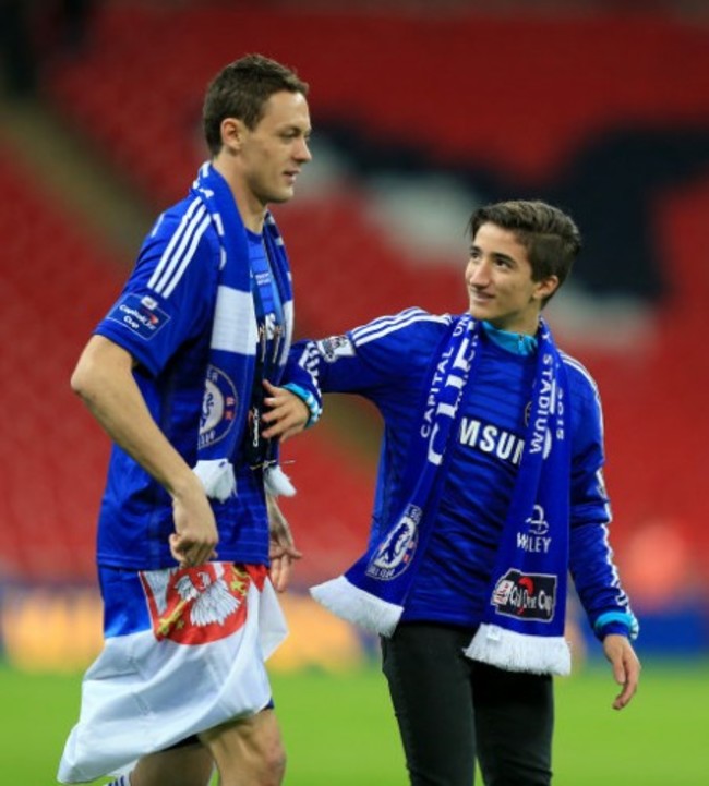
M 231 563 L 141 571 L 158 641 L 205 644 L 236 632 L 247 619 L 249 573 Z

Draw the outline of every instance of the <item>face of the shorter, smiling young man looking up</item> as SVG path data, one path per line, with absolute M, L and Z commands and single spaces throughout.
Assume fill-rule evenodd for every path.
M 470 313 L 494 327 L 533 336 L 542 299 L 558 281 L 550 276 L 532 281 L 527 250 L 514 232 L 483 223 L 472 240 L 466 267 Z

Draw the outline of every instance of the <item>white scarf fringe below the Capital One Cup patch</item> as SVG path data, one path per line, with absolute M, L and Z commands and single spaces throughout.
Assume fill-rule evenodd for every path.
M 526 636 L 486 622 L 478 628 L 465 654 L 507 672 L 564 677 L 572 670 L 572 653 L 564 637 Z

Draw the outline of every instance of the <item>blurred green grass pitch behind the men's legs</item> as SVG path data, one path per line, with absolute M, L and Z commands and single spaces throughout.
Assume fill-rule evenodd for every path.
M 0 667 L 0 783 L 56 783 L 80 681 L 80 675 Z M 287 786 L 405 786 L 386 685 L 376 667 L 345 675 L 275 674 L 273 687 L 289 755 Z M 709 783 L 709 662 L 648 662 L 630 706 L 613 711 L 614 694 L 602 663 L 556 680 L 555 784 Z

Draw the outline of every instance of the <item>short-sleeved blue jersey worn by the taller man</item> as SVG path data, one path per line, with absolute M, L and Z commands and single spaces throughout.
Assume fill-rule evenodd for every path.
M 151 414 L 190 467 L 196 463 L 221 263 L 214 225 L 196 205 L 189 197 L 160 216 L 118 301 L 96 328 L 135 359 L 134 378 Z M 259 235 L 248 240 L 250 254 L 263 254 Z M 260 264 L 267 265 L 264 259 Z M 267 289 L 267 270 L 254 283 Z M 261 323 L 264 314 L 257 316 Z M 225 503 L 211 500 L 219 559 L 267 564 L 262 473 L 250 470 L 239 456 L 232 460 L 238 495 Z M 98 564 L 142 570 L 171 567 L 168 537 L 173 531 L 168 493 L 113 446 L 98 521 Z

